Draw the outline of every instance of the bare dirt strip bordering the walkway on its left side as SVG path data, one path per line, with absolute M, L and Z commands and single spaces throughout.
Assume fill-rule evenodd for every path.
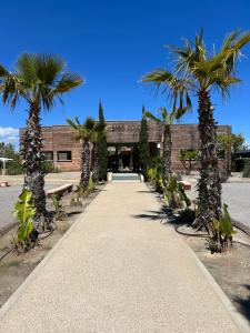
M 28 253 L 18 255 L 16 252 L 10 252 L 6 254 L 10 249 L 11 234 L 17 232 L 17 226 L 0 236 L 0 307 L 62 238 L 102 188 L 103 185 L 98 186 L 91 195 L 83 199 L 83 206 L 70 208 L 71 194 L 63 196 L 62 203 L 66 205 L 64 210 L 68 216 L 63 221 L 57 221 L 56 230 L 51 234 L 43 234 L 39 245 Z M 49 206 L 52 209 L 51 200 L 49 200 Z

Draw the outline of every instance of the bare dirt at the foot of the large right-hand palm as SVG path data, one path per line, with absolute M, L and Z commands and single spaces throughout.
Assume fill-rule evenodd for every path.
M 193 230 L 187 226 L 179 230 L 193 233 Z M 183 238 L 233 305 L 250 322 L 250 236 L 240 230 L 236 231 L 236 242 L 227 253 L 211 254 L 204 238 Z

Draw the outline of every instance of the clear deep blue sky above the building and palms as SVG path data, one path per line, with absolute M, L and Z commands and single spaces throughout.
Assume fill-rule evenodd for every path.
M 153 112 L 168 107 L 163 95 L 139 82 L 144 73 L 167 65 L 166 44 L 181 44 L 182 37 L 192 39 L 203 28 L 207 44 L 219 47 L 230 31 L 250 30 L 249 13 L 248 0 L 2 1 L 0 63 L 11 69 L 23 51 L 56 53 L 86 79 L 63 98 L 63 105 L 43 113 L 43 125 L 73 115 L 97 117 L 99 100 L 107 120 L 140 119 L 142 104 Z M 227 101 L 218 95 L 212 101 L 217 121 L 231 124 L 250 144 L 250 46 L 243 53 L 238 74 L 242 83 Z M 181 122 L 197 122 L 193 107 Z M 0 140 L 16 141 L 26 115 L 24 104 L 10 112 L 0 103 Z

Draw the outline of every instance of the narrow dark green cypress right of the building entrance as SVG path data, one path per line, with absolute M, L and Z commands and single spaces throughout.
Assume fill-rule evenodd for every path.
M 142 107 L 142 119 L 141 119 L 141 128 L 140 128 L 140 135 L 139 135 L 139 161 L 141 173 L 147 180 L 147 169 L 150 167 L 150 147 L 149 147 L 149 135 L 148 135 L 148 124 L 147 120 L 143 117 L 144 114 L 144 107 Z

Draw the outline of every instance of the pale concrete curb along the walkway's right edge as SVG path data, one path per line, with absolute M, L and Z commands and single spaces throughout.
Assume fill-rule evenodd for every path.
M 188 244 L 187 244 L 188 245 Z M 203 276 L 210 284 L 211 289 L 213 290 L 214 294 L 218 296 L 218 299 L 223 304 L 224 309 L 231 316 L 232 321 L 237 325 L 237 327 L 242 333 L 249 333 L 250 332 L 250 323 L 248 320 L 234 307 L 232 302 L 229 300 L 229 297 L 226 295 L 226 293 L 222 291 L 220 285 L 217 283 L 217 281 L 213 279 L 211 273 L 208 271 L 208 269 L 204 266 L 204 264 L 201 262 L 201 260 L 197 256 L 197 254 L 193 252 L 193 250 L 188 245 L 188 249 L 194 259 L 197 265 L 199 266 L 200 271 L 202 272 Z

